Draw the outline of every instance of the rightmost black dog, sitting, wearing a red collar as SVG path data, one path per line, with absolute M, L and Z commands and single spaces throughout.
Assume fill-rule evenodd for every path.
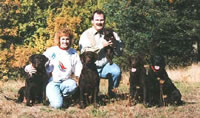
M 165 60 L 161 55 L 151 57 L 151 67 L 148 73 L 149 102 L 152 105 L 180 105 L 181 93 L 172 83 L 165 70 Z

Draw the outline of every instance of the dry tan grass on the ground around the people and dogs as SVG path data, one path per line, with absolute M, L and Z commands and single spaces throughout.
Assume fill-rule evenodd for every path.
M 65 109 L 53 109 L 41 104 L 27 107 L 25 104 L 16 104 L 9 98 L 17 98 L 17 90 L 24 85 L 24 81 L 0 81 L 0 117 L 1 118 L 198 118 L 200 116 L 200 65 L 194 64 L 187 68 L 167 70 L 170 78 L 182 93 L 186 102 L 183 106 L 167 106 L 145 108 L 142 104 L 127 106 L 127 93 L 129 89 L 127 72 L 123 73 L 118 88 L 118 99 L 111 99 L 106 105 L 98 109 L 92 105 L 82 110 L 78 105 Z M 101 80 L 101 94 L 107 94 L 107 80 Z

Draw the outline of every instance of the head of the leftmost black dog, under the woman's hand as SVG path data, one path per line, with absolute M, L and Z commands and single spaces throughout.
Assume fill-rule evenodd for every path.
M 29 61 L 37 71 L 41 71 L 45 68 L 45 64 L 48 61 L 48 58 L 42 54 L 33 54 L 29 57 Z

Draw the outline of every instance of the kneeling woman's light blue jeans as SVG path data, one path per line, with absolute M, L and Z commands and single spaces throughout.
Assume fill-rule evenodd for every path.
M 49 99 L 50 106 L 61 108 L 63 106 L 63 96 L 69 96 L 77 90 L 76 81 L 67 79 L 62 82 L 50 81 L 46 87 L 46 95 Z

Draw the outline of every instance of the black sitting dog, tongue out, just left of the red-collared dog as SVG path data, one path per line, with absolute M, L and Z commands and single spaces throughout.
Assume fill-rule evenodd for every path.
M 146 69 L 144 68 L 143 58 L 140 56 L 130 57 L 130 97 L 129 105 L 132 103 L 147 103 Z

